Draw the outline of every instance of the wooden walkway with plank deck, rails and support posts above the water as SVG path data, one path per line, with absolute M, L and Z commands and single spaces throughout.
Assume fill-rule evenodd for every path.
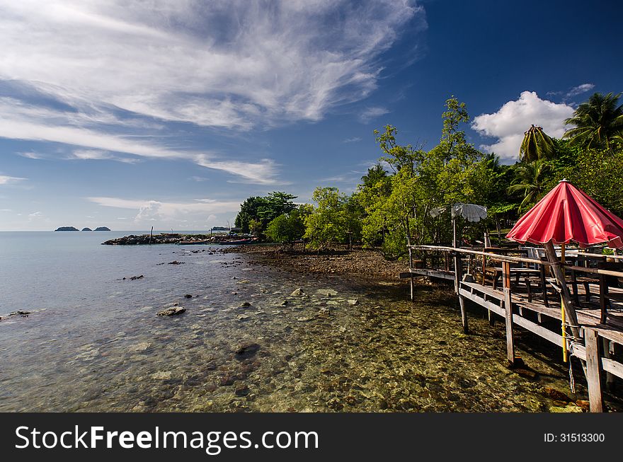
M 604 289 L 602 282 L 605 277 L 623 278 L 623 272 L 568 266 L 578 272 L 589 273 L 590 276 L 596 275 L 600 278 L 600 284 L 590 284 L 588 278 L 578 279 L 583 282 L 578 282 L 573 288 L 575 299 L 573 306 L 578 318 L 580 338 L 573 338 L 570 333 L 567 333 L 564 342 L 561 328 L 561 301 L 554 290 L 556 284 L 552 283 L 552 279 L 548 279 L 544 294 L 542 286 L 537 287 L 536 290 L 531 287 L 530 272 L 527 272 L 526 277 L 522 279 L 517 277 L 518 270 L 515 269 L 513 272 L 513 268 L 510 267 L 511 264 L 532 265 L 533 267 L 546 265 L 547 267 L 547 262 L 439 246 L 411 246 L 411 250 L 449 253 L 454 262 L 453 266 L 458 267 L 458 271 L 455 271 L 454 267 L 450 270 L 411 267 L 408 272 L 402 272 L 399 277 L 411 281 L 411 299 L 414 296 L 413 277 L 426 276 L 454 281 L 455 293 L 459 297 L 461 306 L 464 332 L 469 333 L 466 300 L 486 308 L 491 323 L 494 323 L 496 317 L 499 316 L 506 325 L 507 357 L 511 366 L 514 366 L 516 362 L 514 330 L 517 327 L 529 330 L 561 349 L 563 345 L 566 345 L 568 353 L 581 359 L 585 364 L 591 412 L 602 412 L 602 382 L 605 380 L 608 386 L 612 386 L 615 377 L 623 379 L 623 289 L 616 287 Z M 501 287 L 473 282 L 471 275 L 462 274 L 462 260 L 470 255 L 481 255 L 481 258 L 502 263 Z M 484 272 L 481 270 L 480 277 L 484 273 L 486 270 Z M 486 274 L 484 276 L 486 281 Z M 546 306 L 546 299 L 548 306 Z

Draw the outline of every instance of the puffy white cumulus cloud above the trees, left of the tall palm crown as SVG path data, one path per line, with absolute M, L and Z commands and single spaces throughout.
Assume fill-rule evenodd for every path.
M 537 93 L 524 91 L 518 100 L 508 101 L 497 112 L 474 117 L 471 128 L 484 137 L 497 139 L 491 144 L 482 144 L 481 149 L 495 152 L 506 161 L 515 161 L 524 132 L 532 124 L 543 127 L 550 137 L 560 138 L 565 132 L 564 120 L 571 115 L 570 105 L 542 100 Z

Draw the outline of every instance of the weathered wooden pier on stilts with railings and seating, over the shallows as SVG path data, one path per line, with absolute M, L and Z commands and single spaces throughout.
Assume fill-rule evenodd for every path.
M 453 281 L 464 333 L 469 333 L 465 306 L 469 300 L 487 310 L 491 323 L 496 318 L 505 323 L 510 366 L 516 362 L 513 334 L 517 328 L 565 348 L 569 361 L 576 357 L 583 363 L 590 411 L 602 412 L 602 384 L 612 387 L 615 377 L 623 379 L 623 289 L 616 287 L 617 279 L 623 278 L 621 257 L 615 257 L 619 263 L 612 263 L 605 261 L 609 255 L 576 252 L 562 265 L 578 318 L 578 325 L 565 323 L 563 335 L 561 288 L 550 277 L 554 265 L 547 260 L 527 258 L 520 249 L 408 246 L 408 250 L 409 270 L 400 277 L 410 279 L 411 299 L 414 277 Z M 426 256 L 413 260 L 413 253 Z M 428 262 L 437 265 L 426 267 Z

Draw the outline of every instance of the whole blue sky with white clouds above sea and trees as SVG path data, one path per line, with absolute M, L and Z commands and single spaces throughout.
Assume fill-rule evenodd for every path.
M 0 0 L 0 231 L 202 230 L 242 200 L 355 188 L 379 156 L 467 137 L 506 163 L 619 92 L 618 1 Z

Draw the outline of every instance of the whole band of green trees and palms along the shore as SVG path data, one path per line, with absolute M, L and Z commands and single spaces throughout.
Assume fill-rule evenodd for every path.
M 313 196 L 316 207 L 297 207 L 292 203 L 295 197 L 285 192 L 249 197 L 236 225 L 265 231 L 283 243 L 304 236 L 316 248 L 361 239 L 365 246 L 381 246 L 385 255 L 399 258 L 407 242 L 452 242 L 450 214 L 433 217 L 432 209 L 457 202 L 484 205 L 487 219 L 469 226 L 458 220 L 459 233 L 474 241 L 483 238 L 483 231 L 496 229 L 501 238 L 503 221 L 517 219 L 562 178 L 623 216 L 623 118 L 618 98 L 611 93 L 593 95 L 581 105 L 567 120 L 576 125 L 567 132 L 569 139 L 552 139 L 532 125 L 525 132 L 521 161 L 505 166 L 496 154 L 483 154 L 467 142 L 462 129 L 469 122 L 467 108 L 452 97 L 445 102 L 440 141 L 431 149 L 400 144 L 398 129 L 386 125 L 374 132 L 381 149 L 379 162 L 368 168 L 353 195 L 319 187 Z

